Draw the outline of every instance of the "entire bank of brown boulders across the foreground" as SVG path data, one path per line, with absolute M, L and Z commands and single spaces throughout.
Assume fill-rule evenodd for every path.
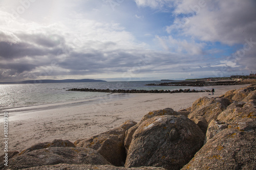
M 1 169 L 255 169 L 256 85 L 202 97 L 183 110 L 145 114 L 140 122 L 74 143 L 56 139 L 1 156 Z

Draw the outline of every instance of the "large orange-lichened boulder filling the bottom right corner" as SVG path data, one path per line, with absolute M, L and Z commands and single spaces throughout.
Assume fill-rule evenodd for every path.
M 255 121 L 244 128 L 226 128 L 207 140 L 185 169 L 255 169 Z

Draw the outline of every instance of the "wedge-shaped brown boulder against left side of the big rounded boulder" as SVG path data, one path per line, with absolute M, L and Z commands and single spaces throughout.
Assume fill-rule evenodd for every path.
M 118 128 L 88 139 L 76 141 L 76 147 L 92 148 L 113 165 L 123 166 L 126 158 L 124 148 L 125 131 L 136 124 L 136 122 L 128 120 Z

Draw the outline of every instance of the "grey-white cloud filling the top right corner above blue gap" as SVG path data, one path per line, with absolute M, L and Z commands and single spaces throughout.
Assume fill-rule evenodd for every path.
M 186 36 L 202 41 L 222 42 L 233 45 L 244 43 L 245 38 L 256 38 L 255 1 L 181 1 L 177 4 L 174 25 L 166 31 L 181 31 Z

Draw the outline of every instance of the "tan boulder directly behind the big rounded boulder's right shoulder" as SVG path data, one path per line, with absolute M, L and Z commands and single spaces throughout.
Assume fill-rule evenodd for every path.
M 211 120 L 216 119 L 228 105 L 230 105 L 230 101 L 225 98 L 209 99 L 203 97 L 193 103 L 188 118 L 193 119 L 197 116 L 203 116 L 207 121 L 207 124 L 209 124 Z

